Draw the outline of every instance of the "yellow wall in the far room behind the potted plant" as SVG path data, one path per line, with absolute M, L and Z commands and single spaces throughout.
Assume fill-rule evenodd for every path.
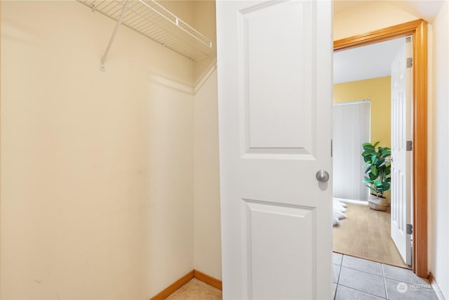
M 334 102 L 371 100 L 371 142 L 391 147 L 390 77 L 334 84 Z

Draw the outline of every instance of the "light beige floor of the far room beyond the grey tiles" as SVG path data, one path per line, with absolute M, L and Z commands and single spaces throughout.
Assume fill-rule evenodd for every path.
M 390 237 L 390 214 L 368 206 L 348 204 L 348 218 L 334 226 L 334 252 L 409 268 Z

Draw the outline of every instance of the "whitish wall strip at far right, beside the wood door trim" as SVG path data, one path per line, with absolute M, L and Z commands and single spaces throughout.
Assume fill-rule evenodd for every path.
M 431 271 L 445 299 L 449 299 L 449 4 L 438 13 L 432 26 L 433 84 L 431 110 Z

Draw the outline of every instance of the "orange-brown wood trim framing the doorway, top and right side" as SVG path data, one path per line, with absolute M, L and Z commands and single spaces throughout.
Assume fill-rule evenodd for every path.
M 334 51 L 413 37 L 413 272 L 427 278 L 427 22 L 414 20 L 334 41 Z

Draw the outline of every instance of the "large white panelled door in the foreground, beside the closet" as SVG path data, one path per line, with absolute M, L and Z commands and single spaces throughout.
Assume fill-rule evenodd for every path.
M 331 298 L 331 27 L 331 1 L 217 1 L 224 299 Z

